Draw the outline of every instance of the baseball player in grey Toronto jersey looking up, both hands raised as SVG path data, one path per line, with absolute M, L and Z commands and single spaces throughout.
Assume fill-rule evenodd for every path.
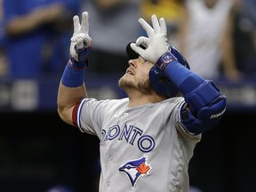
M 84 85 L 92 48 L 88 20 L 88 12 L 81 23 L 74 17 L 58 112 L 66 123 L 100 139 L 100 192 L 188 192 L 188 162 L 202 133 L 225 114 L 225 95 L 189 69 L 167 42 L 164 18 L 152 15 L 152 27 L 139 20 L 148 36 L 127 45 L 131 60 L 118 84 L 128 97 L 89 98 Z

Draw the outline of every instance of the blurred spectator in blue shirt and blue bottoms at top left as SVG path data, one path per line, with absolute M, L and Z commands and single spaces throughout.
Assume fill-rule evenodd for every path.
M 73 0 L 4 0 L 2 2 L 2 76 L 37 77 L 60 71 L 68 60 Z M 4 66 L 5 64 L 5 66 Z

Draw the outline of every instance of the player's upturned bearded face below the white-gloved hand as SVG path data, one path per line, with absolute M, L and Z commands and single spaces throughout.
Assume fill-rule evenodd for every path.
M 118 82 L 119 86 L 124 91 L 139 91 L 142 93 L 149 93 L 152 87 L 149 84 L 149 70 L 154 65 L 147 60 L 139 57 L 135 60 L 129 60 L 129 68 L 127 68 L 124 76 Z

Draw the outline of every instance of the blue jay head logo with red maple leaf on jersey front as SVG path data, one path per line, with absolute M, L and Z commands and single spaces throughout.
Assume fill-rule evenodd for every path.
M 140 159 L 130 160 L 119 167 L 120 172 L 124 172 L 131 181 L 132 188 L 134 188 L 140 176 L 149 174 L 151 166 L 147 164 L 147 156 L 142 156 Z

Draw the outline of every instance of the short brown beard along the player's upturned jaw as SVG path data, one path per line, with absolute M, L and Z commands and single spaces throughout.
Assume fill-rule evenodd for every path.
M 150 94 L 153 89 L 149 83 L 149 79 L 142 79 L 140 81 L 134 82 L 125 78 L 124 76 L 119 79 L 118 85 L 120 88 L 124 89 L 124 92 L 127 94 L 134 91 L 141 92 L 143 94 Z

